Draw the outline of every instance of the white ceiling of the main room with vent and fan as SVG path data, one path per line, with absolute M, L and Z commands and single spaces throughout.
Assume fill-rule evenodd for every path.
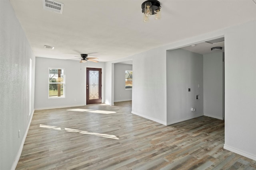
M 253 0 L 160 0 L 162 19 L 148 23 L 142 21 L 143 0 L 57 0 L 63 14 L 44 10 L 42 0 L 10 2 L 34 54 L 56 59 L 94 53 L 111 61 L 256 20 Z

